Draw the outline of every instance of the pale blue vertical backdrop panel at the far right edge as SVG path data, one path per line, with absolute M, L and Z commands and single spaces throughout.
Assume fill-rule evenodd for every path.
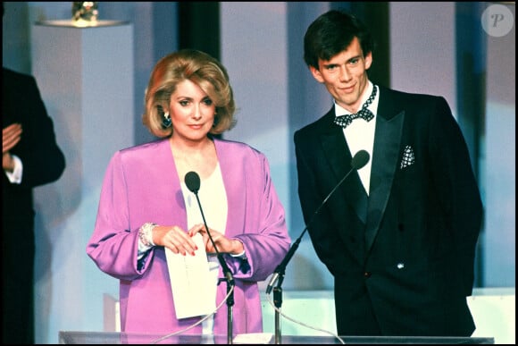
M 507 8 L 515 17 L 515 5 Z M 516 285 L 515 24 L 503 37 L 487 36 L 486 119 L 480 167 L 486 202 L 483 277 L 489 287 Z

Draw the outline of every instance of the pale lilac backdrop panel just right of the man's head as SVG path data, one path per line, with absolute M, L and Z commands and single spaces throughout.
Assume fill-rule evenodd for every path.
M 446 97 L 455 115 L 455 2 L 389 7 L 390 87 Z

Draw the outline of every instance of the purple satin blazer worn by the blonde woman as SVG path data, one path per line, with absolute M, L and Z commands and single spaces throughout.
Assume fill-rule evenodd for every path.
M 225 235 L 242 241 L 247 257 L 246 264 L 223 254 L 236 282 L 232 329 L 234 334 L 260 333 L 263 316 L 257 282 L 268 278 L 288 252 L 285 211 L 266 156 L 243 143 L 214 139 L 214 144 L 229 203 Z M 87 253 L 104 273 L 120 280 L 122 332 L 172 333 L 199 317 L 176 318 L 163 247 L 151 249 L 138 266 L 138 228 L 147 222 L 178 224 L 187 230 L 180 179 L 167 139 L 113 155 Z M 218 285 L 217 306 L 226 293 L 227 284 Z M 227 311 L 223 304 L 215 314 L 214 334 L 227 333 Z M 201 331 L 202 326 L 196 325 L 186 333 Z

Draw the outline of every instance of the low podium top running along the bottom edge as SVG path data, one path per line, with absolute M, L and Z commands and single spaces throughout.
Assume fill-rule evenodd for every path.
M 79 344 L 133 344 L 133 343 L 155 343 L 163 337 L 158 334 L 146 333 L 118 333 L 118 332 L 60 332 L 59 343 Z M 376 344 L 376 343 L 422 343 L 422 344 L 482 344 L 495 343 L 494 338 L 473 338 L 473 337 L 412 337 L 412 336 L 342 336 L 345 343 L 354 344 Z M 228 344 L 227 335 L 187 335 L 180 334 L 164 339 L 159 344 Z M 274 343 L 274 338 L 270 344 Z M 332 336 L 304 336 L 304 335 L 283 335 L 283 344 L 341 344 L 337 338 Z

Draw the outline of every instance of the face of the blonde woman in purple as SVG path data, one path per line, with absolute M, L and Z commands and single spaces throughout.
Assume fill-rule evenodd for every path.
M 188 141 L 205 139 L 214 122 L 213 100 L 191 80 L 181 81 L 171 95 L 172 136 Z

